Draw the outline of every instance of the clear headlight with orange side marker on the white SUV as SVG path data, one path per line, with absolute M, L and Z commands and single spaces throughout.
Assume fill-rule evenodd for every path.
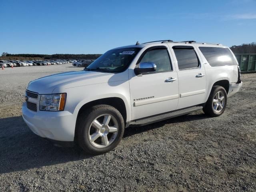
M 41 95 L 41 111 L 63 111 L 66 102 L 66 93 Z

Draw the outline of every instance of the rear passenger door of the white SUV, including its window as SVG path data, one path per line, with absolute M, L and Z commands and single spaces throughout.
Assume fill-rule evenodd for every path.
M 177 109 L 204 103 L 206 76 L 197 50 L 193 46 L 173 46 L 172 53 L 179 80 Z

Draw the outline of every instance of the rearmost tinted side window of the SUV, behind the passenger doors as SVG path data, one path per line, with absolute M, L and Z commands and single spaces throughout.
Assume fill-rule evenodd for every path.
M 237 65 L 236 60 L 228 48 L 199 47 L 199 49 L 212 67 Z

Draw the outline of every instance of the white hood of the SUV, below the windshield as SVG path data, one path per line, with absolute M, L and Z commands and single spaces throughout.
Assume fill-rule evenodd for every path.
M 86 86 L 109 82 L 115 74 L 95 71 L 71 71 L 45 76 L 28 84 L 28 90 L 39 94 L 51 94 L 52 91 L 60 86 L 72 88 L 75 86 Z M 122 80 L 122 79 L 118 79 Z M 113 79 L 114 81 L 114 79 Z

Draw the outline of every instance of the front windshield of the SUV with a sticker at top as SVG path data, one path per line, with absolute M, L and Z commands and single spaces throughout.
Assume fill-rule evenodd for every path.
M 85 70 L 119 73 L 128 68 L 141 48 L 122 48 L 109 50 L 96 59 Z

